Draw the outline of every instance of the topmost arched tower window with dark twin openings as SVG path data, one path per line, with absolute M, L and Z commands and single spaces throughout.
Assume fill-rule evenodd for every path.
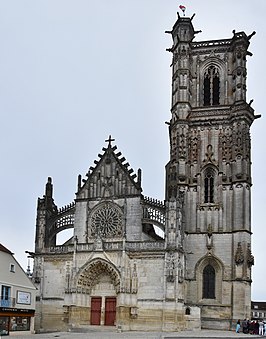
M 220 104 L 220 76 L 215 66 L 210 66 L 204 74 L 204 106 Z

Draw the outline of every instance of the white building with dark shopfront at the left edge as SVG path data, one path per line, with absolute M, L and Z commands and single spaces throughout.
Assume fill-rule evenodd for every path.
M 0 335 L 33 333 L 36 287 L 2 244 L 0 267 Z

